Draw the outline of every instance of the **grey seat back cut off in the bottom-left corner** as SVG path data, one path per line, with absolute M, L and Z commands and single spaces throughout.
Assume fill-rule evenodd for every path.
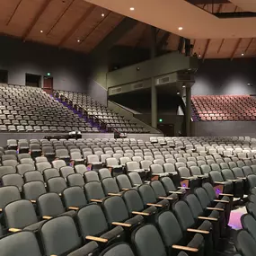
M 0 239 L 1 256 L 42 256 L 36 235 L 22 231 Z

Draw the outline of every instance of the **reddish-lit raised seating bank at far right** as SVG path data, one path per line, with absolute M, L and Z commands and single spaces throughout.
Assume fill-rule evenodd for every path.
M 250 95 L 192 96 L 192 110 L 199 121 L 256 119 L 256 101 Z

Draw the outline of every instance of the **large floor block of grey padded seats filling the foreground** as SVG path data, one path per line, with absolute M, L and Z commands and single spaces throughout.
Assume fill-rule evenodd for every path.
M 216 255 L 256 186 L 251 137 L 9 139 L 0 154 L 3 256 Z

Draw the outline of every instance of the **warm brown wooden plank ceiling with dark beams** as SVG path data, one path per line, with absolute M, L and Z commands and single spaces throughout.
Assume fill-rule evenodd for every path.
M 0 0 L 0 33 L 58 48 L 89 53 L 124 19 L 84 0 Z M 199 4 L 206 11 L 241 12 L 234 4 Z M 166 31 L 157 31 L 157 41 Z M 150 27 L 137 22 L 116 45 L 149 48 Z M 171 34 L 165 50 L 177 50 L 180 37 Z M 255 57 L 256 39 L 191 40 L 201 58 Z

